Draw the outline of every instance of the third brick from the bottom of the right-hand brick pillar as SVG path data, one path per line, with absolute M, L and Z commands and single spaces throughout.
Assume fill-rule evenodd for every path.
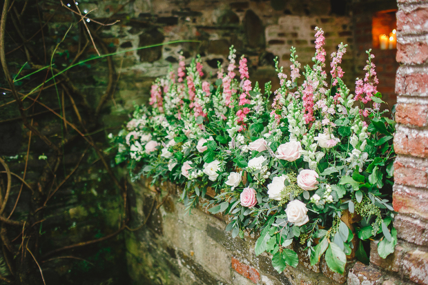
M 414 175 L 417 172 L 414 172 Z M 425 174 L 426 175 L 426 174 Z M 428 219 L 428 191 L 418 188 L 394 185 L 392 204 L 399 213 L 416 214 Z

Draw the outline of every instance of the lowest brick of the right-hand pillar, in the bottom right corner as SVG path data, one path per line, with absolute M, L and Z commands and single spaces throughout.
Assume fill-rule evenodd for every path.
M 402 274 L 416 284 L 428 284 L 428 253 L 421 250 L 412 250 L 402 261 Z

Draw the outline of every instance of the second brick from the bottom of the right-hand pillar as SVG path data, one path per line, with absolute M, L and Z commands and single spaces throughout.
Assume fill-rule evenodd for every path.
M 428 246 L 428 222 L 425 219 L 414 219 L 398 214 L 393 220 L 397 236 L 420 246 Z

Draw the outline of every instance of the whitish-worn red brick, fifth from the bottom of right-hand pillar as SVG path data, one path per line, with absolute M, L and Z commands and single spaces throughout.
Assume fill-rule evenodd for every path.
M 428 137 L 416 130 L 409 133 L 397 131 L 393 138 L 393 148 L 399 155 L 428 157 Z

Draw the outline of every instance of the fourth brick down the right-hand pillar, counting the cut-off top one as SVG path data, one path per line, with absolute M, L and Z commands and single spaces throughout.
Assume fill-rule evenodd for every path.
M 400 95 L 427 95 L 428 94 L 428 74 L 414 73 L 410 75 L 400 75 L 396 77 L 396 93 Z

